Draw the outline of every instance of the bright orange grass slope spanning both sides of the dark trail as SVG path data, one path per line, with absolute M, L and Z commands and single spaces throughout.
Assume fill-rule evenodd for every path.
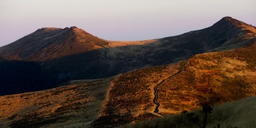
M 123 125 L 255 95 L 255 49 L 254 43 L 122 74 L 111 85 L 95 126 Z

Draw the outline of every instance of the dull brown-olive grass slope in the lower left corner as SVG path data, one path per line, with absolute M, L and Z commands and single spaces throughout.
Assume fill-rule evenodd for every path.
M 0 127 L 88 127 L 113 78 L 0 97 Z

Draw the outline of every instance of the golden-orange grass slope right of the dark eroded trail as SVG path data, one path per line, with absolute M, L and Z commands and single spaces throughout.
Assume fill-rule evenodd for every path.
M 159 113 L 177 114 L 199 108 L 246 98 L 256 94 L 254 45 L 227 52 L 198 54 L 186 64 L 186 70 L 158 87 Z M 250 53 L 251 52 L 251 53 Z M 232 54 L 237 54 L 234 57 Z M 238 55 L 239 54 L 239 55 Z M 253 68 L 253 69 L 252 69 Z

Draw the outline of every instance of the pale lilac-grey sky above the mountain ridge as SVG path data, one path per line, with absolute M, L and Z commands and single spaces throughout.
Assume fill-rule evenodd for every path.
M 255 0 L 0 0 L 0 46 L 44 27 L 139 41 L 210 27 L 226 16 L 256 26 L 255 6 Z

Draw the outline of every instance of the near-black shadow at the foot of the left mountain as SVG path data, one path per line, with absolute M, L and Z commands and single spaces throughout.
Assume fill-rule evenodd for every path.
M 0 95 L 51 89 L 59 82 L 43 73 L 36 62 L 0 61 Z

